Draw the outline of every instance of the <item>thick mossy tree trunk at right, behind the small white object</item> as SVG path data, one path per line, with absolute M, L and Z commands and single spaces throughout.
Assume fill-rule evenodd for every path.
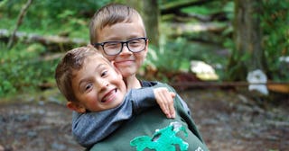
M 261 29 L 258 0 L 235 0 L 235 49 L 228 63 L 228 79 L 245 80 L 255 69 L 265 70 L 266 60 L 261 48 Z

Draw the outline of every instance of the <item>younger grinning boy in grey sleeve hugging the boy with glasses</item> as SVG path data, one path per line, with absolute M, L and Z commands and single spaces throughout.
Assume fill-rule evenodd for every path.
M 153 91 L 150 87 L 126 93 L 121 74 L 93 47 L 67 52 L 56 68 L 55 79 L 61 93 L 69 101 L 68 108 L 78 112 L 73 115 L 79 116 L 82 122 L 93 122 L 93 127 L 89 128 L 80 126 L 89 123 L 79 122 L 76 125 L 83 128 L 80 131 L 89 132 L 84 136 L 91 136 L 81 144 L 84 147 L 106 138 L 133 115 L 156 106 L 155 100 L 168 118 L 175 116 L 172 102 L 174 93 L 169 93 L 166 88 Z M 86 118 L 88 120 L 84 120 Z

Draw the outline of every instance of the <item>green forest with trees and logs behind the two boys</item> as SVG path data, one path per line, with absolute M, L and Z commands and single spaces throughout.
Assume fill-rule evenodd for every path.
M 145 79 L 200 81 L 179 76 L 199 60 L 214 68 L 218 84 L 246 82 L 256 69 L 268 82 L 289 80 L 288 1 L 3 0 L 0 96 L 55 87 L 61 55 L 89 42 L 90 18 L 110 2 L 131 4 L 144 16 L 151 49 L 140 72 Z

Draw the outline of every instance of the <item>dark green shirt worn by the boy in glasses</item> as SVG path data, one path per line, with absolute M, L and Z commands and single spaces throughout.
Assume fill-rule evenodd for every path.
M 167 84 L 160 83 L 155 86 L 167 86 L 170 89 L 172 88 Z M 191 115 L 185 110 L 183 103 L 179 100 L 180 98 L 181 97 L 179 96 L 174 98 L 174 108 L 176 111 L 175 119 L 167 119 L 158 107 L 150 108 L 149 110 L 134 116 L 131 120 L 126 121 L 119 129 L 111 133 L 107 138 L 99 141 L 89 150 L 134 151 L 136 148 L 132 145 L 132 142 L 134 142 L 135 139 L 140 140 L 138 142 L 141 143 L 139 144 L 141 146 L 140 148 L 149 147 L 147 146 L 148 144 L 153 144 L 150 147 L 155 147 L 156 142 L 164 139 L 165 142 L 169 144 L 163 145 L 163 142 L 161 142 L 161 147 L 157 147 L 158 150 L 168 150 L 167 147 L 171 147 L 172 150 L 172 147 L 178 148 L 185 144 L 185 146 L 188 147 L 185 150 L 208 151 L 209 149 L 201 138 L 197 126 L 192 120 Z M 175 133 L 171 133 L 171 135 L 167 135 L 168 133 L 157 134 L 160 132 L 159 129 L 165 129 L 174 122 L 181 123 L 182 128 L 184 128 L 182 129 L 183 131 L 175 131 Z M 187 135 L 185 135 L 185 133 Z M 155 138 L 153 138 L 153 136 Z

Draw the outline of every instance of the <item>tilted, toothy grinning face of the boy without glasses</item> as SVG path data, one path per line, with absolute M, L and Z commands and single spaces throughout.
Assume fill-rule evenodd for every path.
M 70 103 L 78 106 L 74 110 L 79 112 L 115 108 L 123 102 L 126 94 L 126 84 L 120 73 L 98 56 L 87 58 L 83 67 L 74 71 L 72 89 L 79 102 Z

